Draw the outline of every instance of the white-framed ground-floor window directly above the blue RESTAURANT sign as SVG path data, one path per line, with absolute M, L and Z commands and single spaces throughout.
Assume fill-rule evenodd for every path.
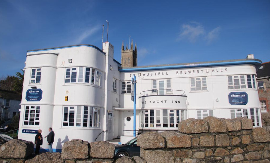
M 26 106 L 23 125 L 39 125 L 40 106 Z

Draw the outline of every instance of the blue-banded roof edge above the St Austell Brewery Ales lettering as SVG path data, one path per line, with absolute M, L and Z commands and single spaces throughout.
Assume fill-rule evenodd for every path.
M 133 72 L 133 71 L 147 71 L 147 70 L 159 70 L 159 69 L 178 69 L 178 68 L 193 68 L 193 67 L 211 67 L 211 66 L 225 66 L 225 65 L 238 65 L 238 64 L 253 64 L 261 65 L 262 62 L 258 60 L 243 60 L 243 61 L 229 61 L 229 62 L 217 62 L 217 63 L 194 63 L 184 65 L 170 65 L 170 66 L 156 66 L 156 67 L 140 67 L 119 69 L 120 72 Z

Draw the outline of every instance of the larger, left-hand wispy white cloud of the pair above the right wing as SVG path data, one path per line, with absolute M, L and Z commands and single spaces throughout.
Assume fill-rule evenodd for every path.
M 202 25 L 197 22 L 190 22 L 190 24 L 182 25 L 182 32 L 179 39 L 187 38 L 190 42 L 196 42 L 200 35 L 204 35 L 205 30 Z

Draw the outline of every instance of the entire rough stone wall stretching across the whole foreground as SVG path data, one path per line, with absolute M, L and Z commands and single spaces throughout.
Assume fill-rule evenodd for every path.
M 33 143 L 10 140 L 0 148 L 0 163 L 270 163 L 270 133 L 253 128 L 247 118 L 202 120 L 189 118 L 179 132 L 148 132 L 138 136 L 141 157 L 113 159 L 115 146 L 108 142 L 65 142 L 62 153 L 31 157 Z

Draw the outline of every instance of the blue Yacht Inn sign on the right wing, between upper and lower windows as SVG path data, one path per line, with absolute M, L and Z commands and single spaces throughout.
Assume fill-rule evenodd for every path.
M 246 92 L 231 92 L 228 96 L 231 105 L 246 105 L 248 102 Z

